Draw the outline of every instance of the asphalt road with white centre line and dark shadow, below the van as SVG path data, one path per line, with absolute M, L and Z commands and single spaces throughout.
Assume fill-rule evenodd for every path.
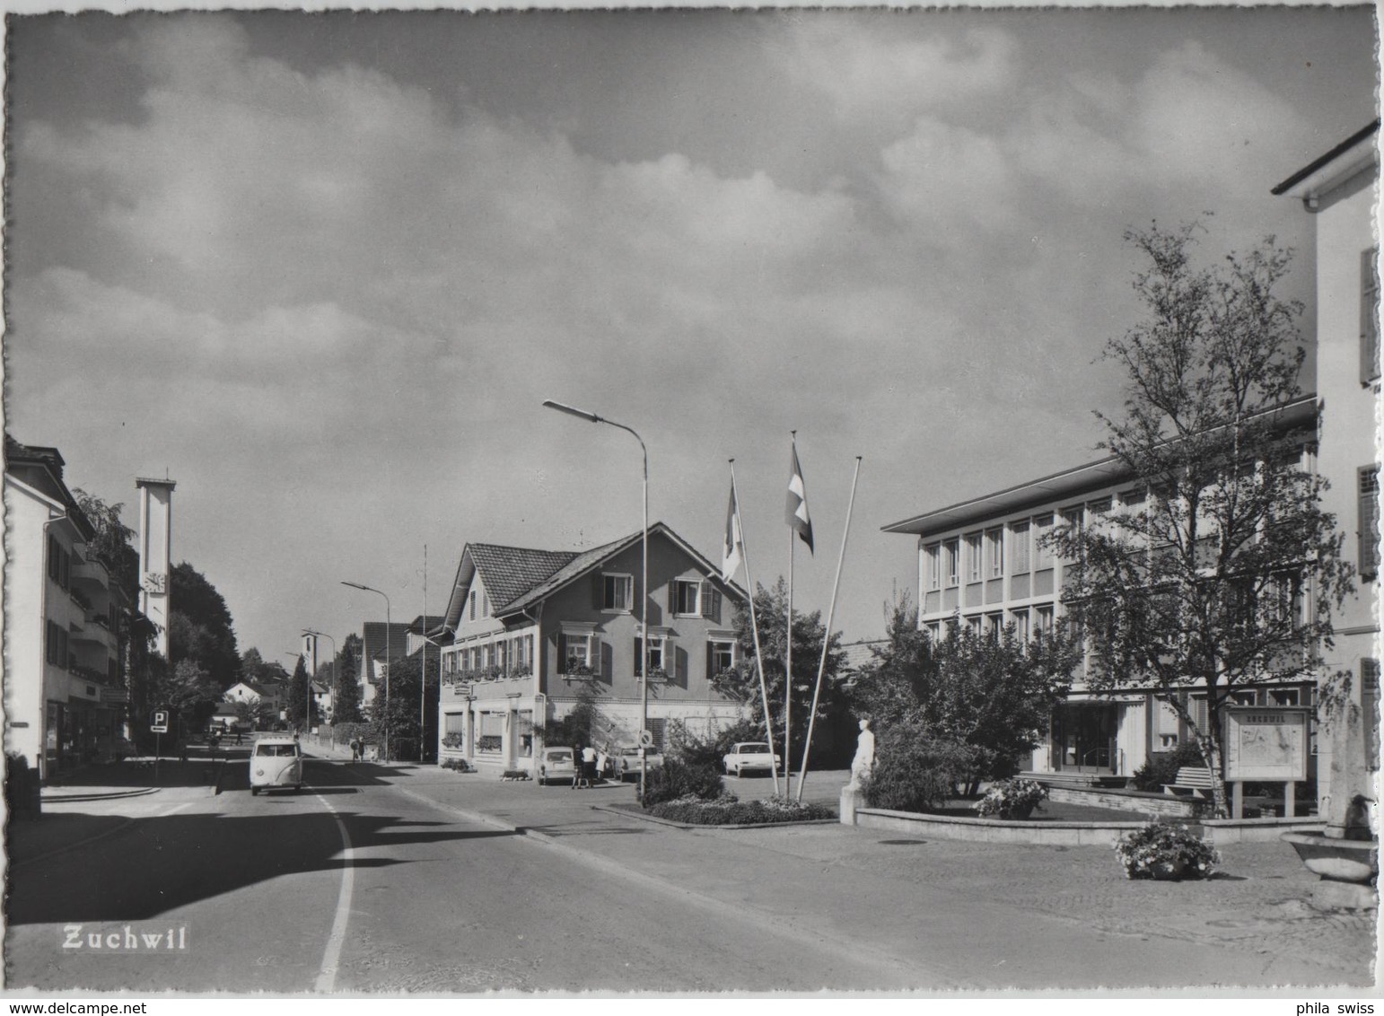
M 7 986 L 768 991 L 801 984 L 800 970 L 839 988 L 934 977 L 461 819 L 349 765 L 309 761 L 302 793 L 257 797 L 241 765 L 227 772 L 219 796 L 169 800 L 18 869 Z

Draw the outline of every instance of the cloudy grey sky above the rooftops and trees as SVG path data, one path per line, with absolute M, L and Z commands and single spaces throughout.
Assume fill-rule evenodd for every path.
M 1121 234 L 1269 188 L 1376 116 L 1372 7 L 24 17 L 8 37 L 7 429 L 125 501 L 241 648 L 440 612 L 464 543 L 650 515 L 877 637 L 880 526 L 1092 457 L 1136 320 Z M 1311 321 L 1306 323 L 1311 331 Z

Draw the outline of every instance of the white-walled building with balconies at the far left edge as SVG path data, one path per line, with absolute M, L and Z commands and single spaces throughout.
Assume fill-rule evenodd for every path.
M 6 435 L 6 750 L 43 779 L 112 753 L 125 732 L 127 598 L 89 554 L 95 536 L 57 448 Z

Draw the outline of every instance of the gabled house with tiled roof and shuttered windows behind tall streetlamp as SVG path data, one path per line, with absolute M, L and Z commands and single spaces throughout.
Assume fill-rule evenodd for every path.
M 713 687 L 739 662 L 734 615 L 743 590 L 656 523 L 645 592 L 641 536 L 581 552 L 464 548 L 437 639 L 441 759 L 531 768 L 545 724 L 579 702 L 595 706 L 612 746 L 637 742 L 644 710 L 657 745 L 673 720 L 704 732 L 745 714 Z

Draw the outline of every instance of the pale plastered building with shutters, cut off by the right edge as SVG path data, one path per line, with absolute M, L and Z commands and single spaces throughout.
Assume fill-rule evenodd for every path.
M 1355 595 L 1333 616 L 1324 673 L 1354 675 L 1352 699 L 1372 718 L 1366 757 L 1378 768 L 1380 570 L 1380 274 L 1374 239 L 1378 120 L 1273 188 L 1316 220 L 1316 390 L 1322 400 L 1318 469 L 1330 482 L 1323 507 L 1345 536 Z M 1318 790 L 1331 790 L 1334 739 L 1319 746 Z M 1373 797 L 1369 788 L 1355 788 Z

